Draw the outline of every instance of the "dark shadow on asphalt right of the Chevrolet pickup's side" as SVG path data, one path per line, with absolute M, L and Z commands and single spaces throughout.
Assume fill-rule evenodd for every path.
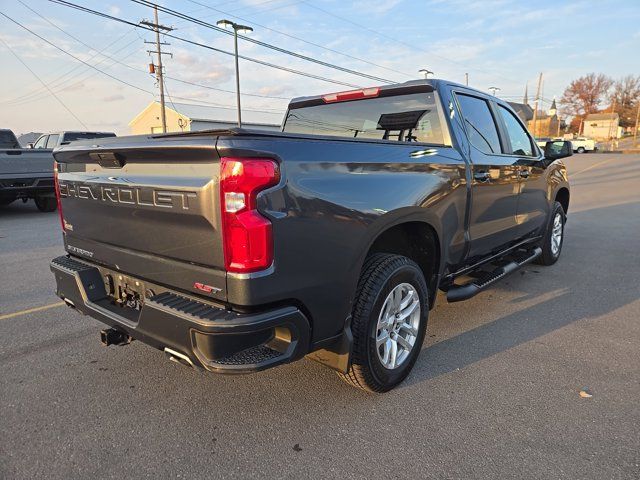
M 630 222 L 633 218 L 636 221 Z M 638 258 L 635 242 L 630 241 L 639 238 L 638 219 L 638 202 L 570 214 L 563 256 L 556 265 L 529 265 L 520 274 L 511 275 L 492 290 L 459 306 L 447 305 L 446 300 L 438 298 L 430 315 L 425 347 L 403 385 L 463 369 L 640 299 L 635 272 L 629 268 L 629 260 L 635 258 L 637 262 Z M 594 225 L 598 230 L 593 229 Z M 610 235 L 611 232 L 616 233 Z M 626 281 L 624 276 L 628 277 Z M 541 301 L 536 303 L 536 299 Z M 478 317 L 504 312 L 500 302 L 506 302 L 511 313 L 478 325 Z M 531 303 L 534 304 L 526 306 Z M 456 322 L 454 328 L 458 331 L 453 335 L 446 317 L 465 319 Z M 442 337 L 445 339 L 437 341 Z M 435 343 L 430 344 L 432 338 Z

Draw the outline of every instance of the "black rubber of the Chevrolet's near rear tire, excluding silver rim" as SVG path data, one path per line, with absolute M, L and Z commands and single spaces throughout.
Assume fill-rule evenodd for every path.
M 409 284 L 418 295 L 419 325 L 413 346 L 405 354 L 404 361 L 389 369 L 382 363 L 376 348 L 378 318 L 388 295 L 401 284 Z M 354 300 L 351 318 L 351 367 L 346 374 L 339 373 L 340 377 L 350 385 L 368 392 L 386 392 L 394 388 L 407 377 L 420 354 L 428 316 L 429 293 L 420 267 L 401 255 L 377 253 L 370 256 L 362 269 Z M 396 333 L 392 335 L 397 338 Z

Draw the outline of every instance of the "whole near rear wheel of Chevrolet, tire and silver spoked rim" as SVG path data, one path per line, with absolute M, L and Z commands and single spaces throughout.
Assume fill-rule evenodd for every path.
M 420 267 L 401 255 L 374 254 L 358 283 L 351 319 L 352 364 L 347 383 L 386 392 L 402 382 L 416 362 L 429 314 Z

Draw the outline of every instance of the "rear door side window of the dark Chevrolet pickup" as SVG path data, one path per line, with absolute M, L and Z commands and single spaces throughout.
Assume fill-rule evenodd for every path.
M 483 153 L 502 153 L 498 128 L 486 100 L 456 94 L 467 127 L 471 145 Z

